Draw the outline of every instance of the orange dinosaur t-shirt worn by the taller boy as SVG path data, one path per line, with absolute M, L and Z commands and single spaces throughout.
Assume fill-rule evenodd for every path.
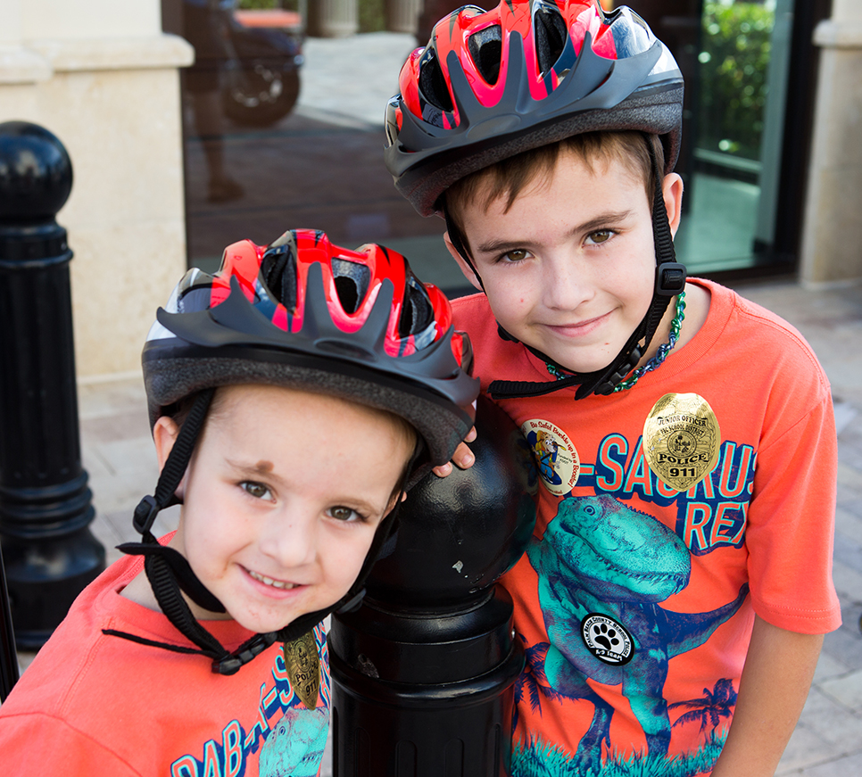
M 526 650 L 512 773 L 709 773 L 754 614 L 841 623 L 832 583 L 836 435 L 801 335 L 720 285 L 709 317 L 632 389 L 499 404 L 533 452 L 533 539 L 502 579 Z M 484 295 L 453 302 L 483 390 L 551 380 L 497 335 Z M 574 771 L 571 771 L 574 770 Z M 611 772 L 608 772 L 611 773 Z

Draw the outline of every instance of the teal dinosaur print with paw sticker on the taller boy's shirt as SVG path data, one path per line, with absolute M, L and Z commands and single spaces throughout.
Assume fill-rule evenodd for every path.
M 707 641 L 742 606 L 748 585 L 734 601 L 711 612 L 659 608 L 688 584 L 689 550 L 654 517 L 609 496 L 562 500 L 543 539 L 534 539 L 527 555 L 539 575 L 550 644 L 528 651 L 534 679 L 523 682 L 535 683 L 550 698 L 593 704 L 593 722 L 570 766 L 575 773 L 599 773 L 602 745 L 611 744 L 613 707 L 588 679 L 621 684 L 642 726 L 650 760 L 667 756 L 667 662 Z

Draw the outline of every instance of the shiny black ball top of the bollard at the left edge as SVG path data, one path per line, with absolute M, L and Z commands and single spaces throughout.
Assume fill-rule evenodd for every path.
M 71 185 L 71 160 L 57 136 L 29 121 L 0 124 L 0 221 L 53 220 Z

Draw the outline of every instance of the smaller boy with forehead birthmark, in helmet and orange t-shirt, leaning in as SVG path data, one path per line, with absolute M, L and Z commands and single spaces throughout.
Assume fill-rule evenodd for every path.
M 404 489 L 470 429 L 468 340 L 401 255 L 311 230 L 228 246 L 157 318 L 143 362 L 162 475 L 136 510 L 144 541 L 0 707 L 3 773 L 312 777 L 319 622 L 361 596 Z M 153 518 L 176 500 L 160 543 Z

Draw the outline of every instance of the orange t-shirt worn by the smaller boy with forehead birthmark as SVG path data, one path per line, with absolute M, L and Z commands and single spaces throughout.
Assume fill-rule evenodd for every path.
M 106 635 L 103 629 L 194 648 L 168 619 L 120 596 L 143 567 L 120 558 L 72 604 L 0 707 L 0 771 L 63 777 L 315 777 L 326 745 L 326 634 L 314 629 L 316 709 L 294 694 L 280 643 L 239 672 L 211 659 Z M 252 636 L 207 621 L 228 650 Z

